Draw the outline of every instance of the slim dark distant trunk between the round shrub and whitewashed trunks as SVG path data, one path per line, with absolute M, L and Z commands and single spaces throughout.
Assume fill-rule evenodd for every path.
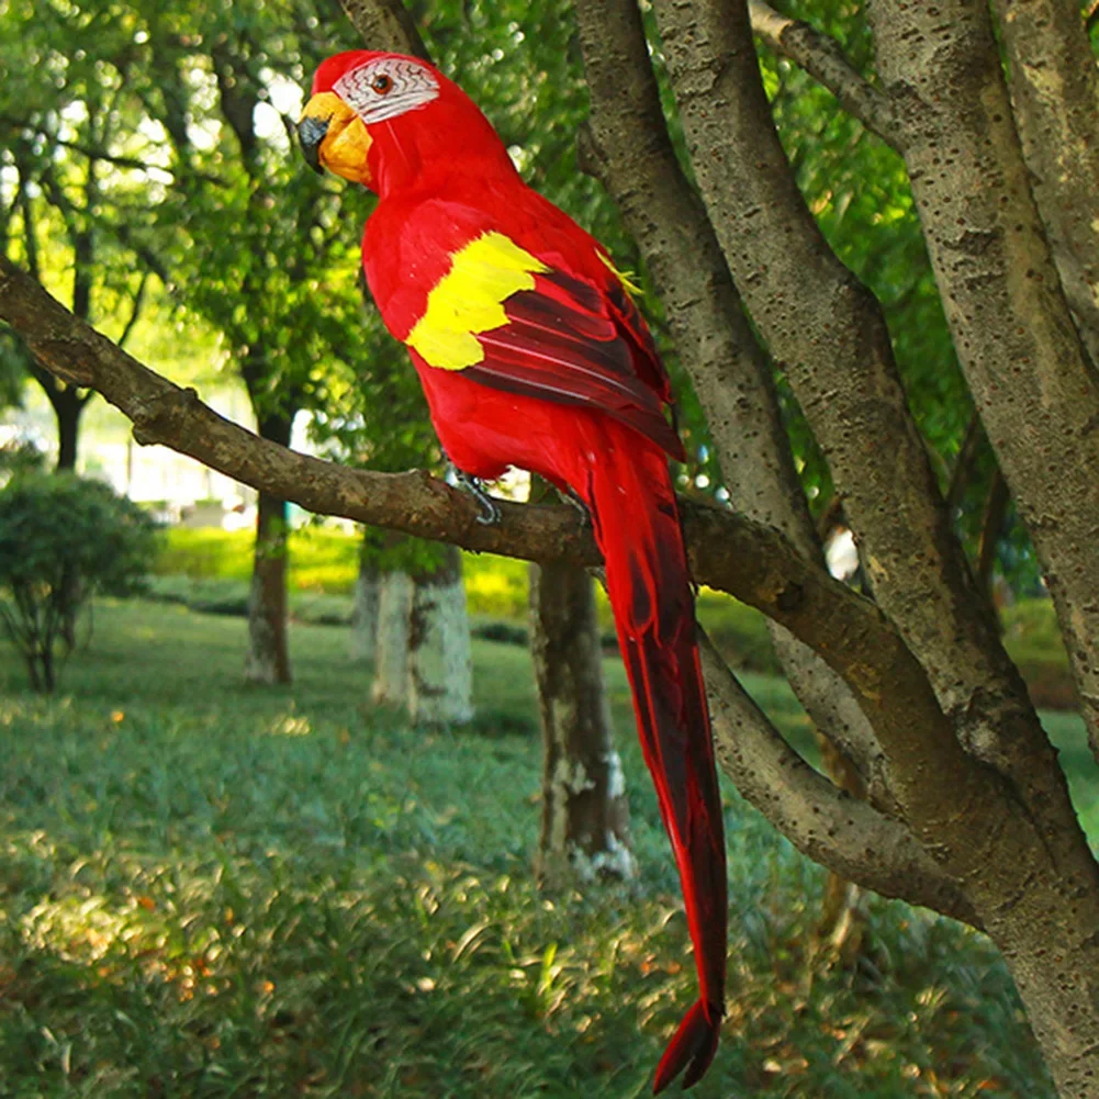
M 293 415 L 262 417 L 259 434 L 282 446 L 290 444 Z M 286 630 L 287 503 L 259 493 L 256 554 L 248 596 L 248 653 L 244 677 L 249 682 L 288 684 L 290 653 Z

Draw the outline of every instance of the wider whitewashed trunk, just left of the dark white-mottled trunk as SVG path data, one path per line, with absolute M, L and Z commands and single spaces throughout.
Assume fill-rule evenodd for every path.
M 415 578 L 409 633 L 409 714 L 413 721 L 460 725 L 474 717 L 473 650 L 462 554 Z

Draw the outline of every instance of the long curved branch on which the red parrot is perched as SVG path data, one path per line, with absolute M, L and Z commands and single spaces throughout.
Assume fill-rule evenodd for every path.
M 346 469 L 257 439 L 202 404 L 193 390 L 154 374 L 78 321 L 3 258 L 0 318 L 23 335 L 44 366 L 70 384 L 96 389 L 129 417 L 140 443 L 170 446 L 322 514 L 530 560 L 599 563 L 590 533 L 580 529 L 571 508 L 501 502 L 503 522 L 484 526 L 473 501 L 425 473 Z M 975 777 L 923 669 L 877 607 L 799 555 L 777 531 L 711 506 L 682 501 L 681 509 L 696 581 L 729 591 L 780 622 L 847 681 L 882 745 L 888 744 L 891 765 L 903 780 L 902 802 L 941 803 L 952 819 L 976 784 L 979 792 L 973 797 L 990 807 L 990 819 L 996 817 L 995 787 L 981 780 L 984 773 Z M 926 758 L 934 761 L 941 784 L 924 781 Z

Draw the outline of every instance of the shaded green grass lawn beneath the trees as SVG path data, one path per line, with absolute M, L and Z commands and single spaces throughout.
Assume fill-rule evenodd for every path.
M 547 897 L 521 647 L 477 642 L 478 722 L 432 732 L 365 704 L 335 626 L 295 624 L 292 687 L 244 686 L 244 630 L 101 606 L 51 700 L 0 648 L 0 1096 L 647 1095 L 693 976 L 617 663 L 642 878 Z M 807 970 L 822 874 L 726 804 L 729 1019 L 692 1096 L 1052 1096 L 981 936 L 872 900 L 859 965 Z

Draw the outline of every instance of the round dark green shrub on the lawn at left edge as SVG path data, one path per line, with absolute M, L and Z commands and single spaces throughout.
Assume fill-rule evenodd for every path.
M 156 553 L 146 513 L 101 481 L 25 474 L 0 490 L 0 620 L 31 686 L 52 691 L 54 651 L 93 595 L 127 595 Z

